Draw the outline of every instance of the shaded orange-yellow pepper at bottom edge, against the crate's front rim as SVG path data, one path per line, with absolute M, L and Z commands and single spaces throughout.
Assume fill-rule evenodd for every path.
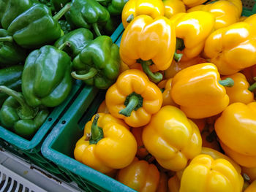
M 139 192 L 157 191 L 159 171 L 154 164 L 135 158 L 132 164 L 118 172 L 117 180 Z

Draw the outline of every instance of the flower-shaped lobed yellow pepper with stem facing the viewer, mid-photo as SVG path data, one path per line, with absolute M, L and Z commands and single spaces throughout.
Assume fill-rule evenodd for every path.
M 162 93 L 146 74 L 130 69 L 118 76 L 106 93 L 111 115 L 132 127 L 145 126 L 162 106 Z

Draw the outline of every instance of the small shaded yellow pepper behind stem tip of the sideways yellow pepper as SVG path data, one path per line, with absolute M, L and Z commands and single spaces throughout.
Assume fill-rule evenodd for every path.
M 222 77 L 222 80 L 225 80 L 227 77 L 230 77 L 234 81 L 232 88 L 226 88 L 227 95 L 230 98 L 230 104 L 241 102 L 244 104 L 249 104 L 255 100 L 254 94 L 249 91 L 249 83 L 246 80 L 244 74 L 235 73 L 229 76 Z M 248 89 L 249 88 L 249 89 Z M 251 87 L 252 88 L 252 87 Z

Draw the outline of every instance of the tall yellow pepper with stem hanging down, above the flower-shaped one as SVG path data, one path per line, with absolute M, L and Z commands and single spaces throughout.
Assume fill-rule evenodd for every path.
M 129 67 L 140 63 L 148 77 L 159 82 L 162 74 L 157 71 L 170 66 L 175 48 L 175 28 L 170 20 L 163 16 L 152 19 L 148 15 L 140 15 L 124 31 L 120 56 Z M 157 73 L 152 73 L 149 66 Z

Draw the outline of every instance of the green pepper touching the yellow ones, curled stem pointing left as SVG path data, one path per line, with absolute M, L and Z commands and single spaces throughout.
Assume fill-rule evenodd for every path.
M 72 77 L 106 89 L 116 81 L 120 64 L 119 47 L 108 36 L 97 37 L 73 60 Z

